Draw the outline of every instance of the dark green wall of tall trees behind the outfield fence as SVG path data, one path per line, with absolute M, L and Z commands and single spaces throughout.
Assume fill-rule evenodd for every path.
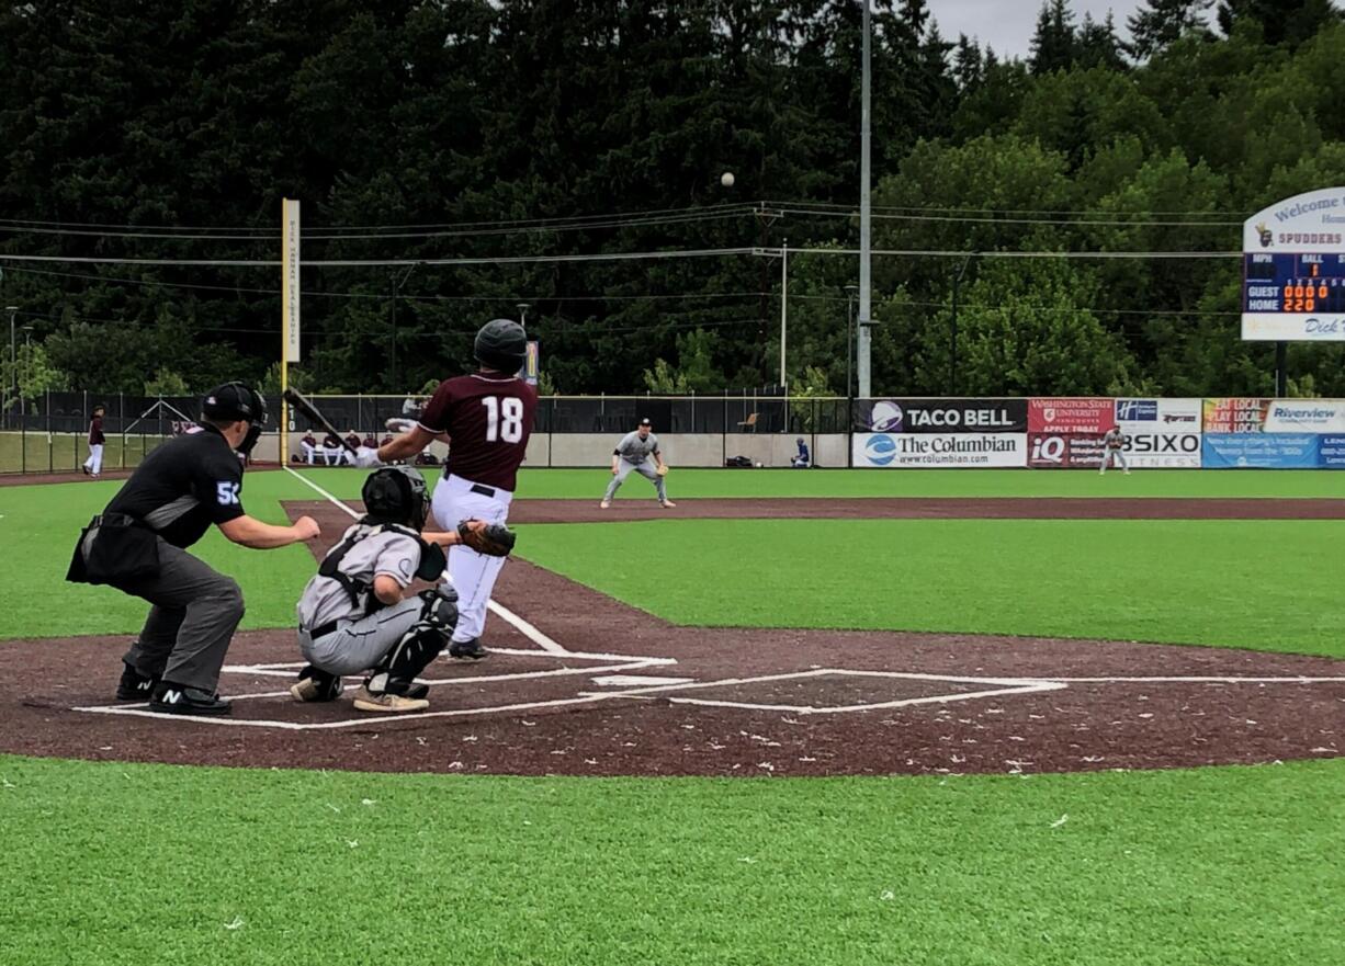
M 1048 0 L 1020 59 L 876 0 L 874 249 L 975 253 L 874 257 L 877 392 L 1270 391 L 1237 259 L 1045 255 L 1233 251 L 1345 183 L 1341 12 L 1127 27 Z M 0 254 L 51 261 L 0 262 L 5 391 L 273 386 L 278 270 L 246 262 L 297 197 L 305 262 L 344 263 L 304 270 L 307 388 L 420 387 L 521 312 L 549 390 L 769 386 L 788 245 L 788 383 L 845 394 L 861 39 L 854 0 L 7 5 Z M 1342 361 L 1293 345 L 1293 391 L 1345 395 Z

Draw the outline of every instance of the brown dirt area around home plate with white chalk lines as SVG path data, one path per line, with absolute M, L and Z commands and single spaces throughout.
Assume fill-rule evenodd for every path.
M 550 519 L 555 502 L 521 501 L 515 520 Z M 683 508 L 707 509 L 685 501 L 670 513 Z M 350 523 L 331 504 L 291 512 L 315 512 L 332 535 Z M 796 507 L 792 516 L 804 515 Z M 430 712 L 399 719 L 348 701 L 293 704 L 299 654 L 288 631 L 238 635 L 221 683 L 235 713 L 214 721 L 113 701 L 124 638 L 3 642 L 0 750 L 378 771 L 835 775 L 1267 763 L 1345 748 L 1345 661 L 679 627 L 525 560 L 504 568 L 496 599 L 518 625 L 490 619 L 496 653 L 436 662 Z

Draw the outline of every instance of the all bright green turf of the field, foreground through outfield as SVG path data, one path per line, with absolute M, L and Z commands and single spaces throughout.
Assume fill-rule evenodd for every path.
M 363 473 L 312 477 L 348 498 Z M 1325 473 L 687 470 L 675 480 L 677 496 L 975 486 L 1079 496 L 1099 485 L 1134 494 L 1134 484 L 1147 496 L 1340 494 Z M 601 470 L 530 472 L 522 489 L 596 498 L 603 482 Z M 623 492 L 647 497 L 643 484 Z M 139 626 L 140 602 L 61 580 L 79 525 L 116 486 L 0 488 L 0 584 L 11 588 L 0 638 Z M 249 512 L 272 521 L 281 500 L 315 496 L 281 473 L 252 474 L 245 488 Z M 1241 633 L 1258 638 L 1248 646 L 1340 654 L 1342 528 L 672 517 L 527 527 L 521 547 L 691 619 L 1011 622 L 1017 633 L 1059 625 L 1205 644 Z M 304 548 L 256 552 L 213 535 L 200 550 L 243 584 L 246 626 L 291 626 L 313 568 Z M 771 566 L 744 563 L 749 555 Z M 1063 609 L 1063 588 L 1080 578 L 1096 592 Z M 1116 584 L 1126 592 L 1102 592 Z M 444 756 L 447 766 L 451 747 Z M 0 756 L 0 881 L 20 884 L 0 903 L 0 963 L 26 966 L 1345 962 L 1345 865 L 1334 860 L 1345 850 L 1345 759 L 651 781 Z

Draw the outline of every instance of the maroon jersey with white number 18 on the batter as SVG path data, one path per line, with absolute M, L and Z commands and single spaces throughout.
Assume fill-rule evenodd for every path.
M 512 493 L 535 414 L 537 390 L 522 379 L 476 372 L 440 383 L 420 425 L 448 434 L 449 473 Z

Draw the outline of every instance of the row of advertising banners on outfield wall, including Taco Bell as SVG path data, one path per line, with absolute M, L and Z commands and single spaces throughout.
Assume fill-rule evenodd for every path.
M 1345 400 L 857 400 L 855 466 L 1098 469 L 1119 429 L 1135 469 L 1345 469 Z

